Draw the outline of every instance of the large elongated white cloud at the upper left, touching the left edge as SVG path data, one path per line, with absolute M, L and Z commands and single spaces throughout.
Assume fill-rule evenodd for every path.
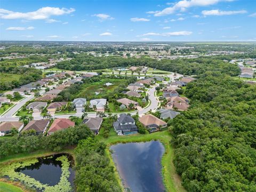
M 49 19 L 53 15 L 63 15 L 70 14 L 74 12 L 75 9 L 70 8 L 59 8 L 59 7 L 42 7 L 33 12 L 14 12 L 10 10 L 0 9 L 1 19 L 27 19 L 27 20 L 39 20 L 39 19 Z

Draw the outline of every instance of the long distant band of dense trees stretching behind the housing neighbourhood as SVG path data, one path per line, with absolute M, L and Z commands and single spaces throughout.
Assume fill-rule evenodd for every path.
M 76 55 L 73 60 L 62 61 L 57 64 L 60 69 L 67 70 L 95 70 L 113 67 L 147 66 L 151 68 L 173 71 L 183 75 L 199 75 L 205 71 L 221 71 L 235 76 L 239 74 L 236 65 L 222 61 L 221 59 L 197 58 L 197 59 L 162 59 L 155 60 L 143 58 L 120 58 L 120 57 L 94 57 L 87 54 Z

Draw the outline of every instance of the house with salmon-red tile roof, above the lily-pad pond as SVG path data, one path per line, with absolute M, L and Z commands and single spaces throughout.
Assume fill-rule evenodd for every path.
M 48 130 L 48 134 L 52 134 L 55 131 L 67 129 L 68 127 L 74 127 L 74 126 L 75 126 L 75 122 L 70 121 L 70 119 L 64 119 L 64 118 L 54 119 L 52 125 Z

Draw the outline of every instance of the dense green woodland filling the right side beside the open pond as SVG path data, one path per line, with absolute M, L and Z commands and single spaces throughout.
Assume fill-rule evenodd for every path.
M 220 73 L 189 83 L 173 119 L 174 164 L 188 191 L 256 191 L 256 86 Z

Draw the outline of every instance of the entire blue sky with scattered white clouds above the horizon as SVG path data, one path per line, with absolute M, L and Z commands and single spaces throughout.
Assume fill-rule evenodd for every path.
M 1 0 L 0 40 L 256 41 L 256 1 Z

